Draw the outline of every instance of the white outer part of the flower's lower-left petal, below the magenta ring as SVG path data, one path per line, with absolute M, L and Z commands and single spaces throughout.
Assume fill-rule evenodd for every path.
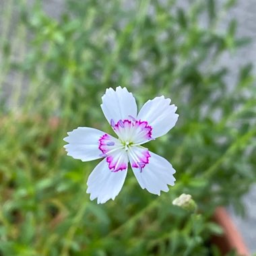
M 98 198 L 97 203 L 105 203 L 109 199 L 115 199 L 125 183 L 127 169 L 112 172 L 108 168 L 106 159 L 102 160 L 90 174 L 86 193 L 90 193 L 90 199 Z

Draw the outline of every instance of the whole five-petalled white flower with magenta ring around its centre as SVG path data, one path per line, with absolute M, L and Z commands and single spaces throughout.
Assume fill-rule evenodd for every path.
M 141 145 L 174 127 L 177 106 L 160 96 L 148 100 L 137 114 L 133 94 L 119 86 L 106 89 L 101 108 L 118 139 L 90 127 L 78 127 L 64 138 L 69 143 L 64 146 L 68 156 L 85 162 L 104 158 L 88 178 L 90 199 L 98 198 L 98 203 L 114 200 L 125 182 L 128 162 L 142 189 L 156 195 L 167 192 L 167 185 L 174 185 L 174 168 Z

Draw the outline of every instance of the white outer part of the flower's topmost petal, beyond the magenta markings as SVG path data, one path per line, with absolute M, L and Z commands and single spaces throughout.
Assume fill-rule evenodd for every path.
M 106 93 L 102 96 L 102 104 L 100 105 L 104 116 L 108 123 L 117 123 L 119 120 L 131 119 L 137 117 L 137 104 L 131 92 L 127 88 L 120 86 L 106 89 Z M 129 117 L 131 116 L 131 117 Z

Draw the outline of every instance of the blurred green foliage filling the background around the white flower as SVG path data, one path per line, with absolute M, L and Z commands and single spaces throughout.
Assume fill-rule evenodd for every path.
M 4 1 L 1 12 L 0 255 L 220 255 L 210 236 L 218 205 L 243 214 L 255 182 L 255 79 L 240 67 L 228 84 L 221 59 L 236 53 L 235 1 L 67 1 L 58 18 L 40 5 Z M 110 128 L 100 110 L 108 87 L 126 86 L 142 106 L 172 98 L 177 126 L 150 150 L 177 170 L 160 197 L 129 172 L 115 199 L 90 201 L 96 162 L 66 156 L 77 126 Z M 201 214 L 172 205 L 193 195 Z M 229 255 L 235 255 L 230 252 Z

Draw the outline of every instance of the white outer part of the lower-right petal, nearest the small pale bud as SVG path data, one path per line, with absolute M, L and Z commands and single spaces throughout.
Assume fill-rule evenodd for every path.
M 174 186 L 174 168 L 165 158 L 153 152 L 150 152 L 149 163 L 142 171 L 139 168 L 132 168 L 141 188 L 147 189 L 152 194 L 160 195 L 160 191 L 169 190 L 167 185 Z

